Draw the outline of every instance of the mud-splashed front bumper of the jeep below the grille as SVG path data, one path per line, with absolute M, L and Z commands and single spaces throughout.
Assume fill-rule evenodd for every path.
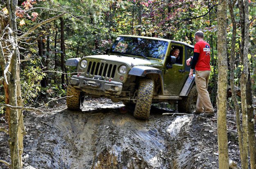
M 69 82 L 73 87 L 79 88 L 90 95 L 120 95 L 122 91 L 122 83 L 116 81 L 105 81 L 73 75 Z

